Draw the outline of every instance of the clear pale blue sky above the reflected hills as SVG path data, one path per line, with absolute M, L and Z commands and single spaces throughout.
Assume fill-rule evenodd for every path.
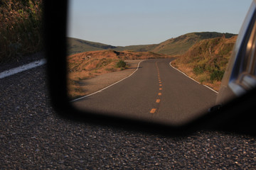
M 192 32 L 238 34 L 252 0 L 70 0 L 68 37 L 156 44 Z

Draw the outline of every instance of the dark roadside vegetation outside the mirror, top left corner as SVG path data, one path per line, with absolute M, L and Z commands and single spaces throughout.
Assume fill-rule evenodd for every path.
M 0 1 L 0 64 L 41 51 L 42 0 Z

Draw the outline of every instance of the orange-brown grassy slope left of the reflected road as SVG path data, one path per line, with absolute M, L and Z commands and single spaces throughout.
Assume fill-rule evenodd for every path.
M 85 89 L 79 81 L 96 77 L 107 72 L 126 69 L 124 60 L 144 60 L 150 58 L 165 58 L 154 52 L 132 52 L 115 50 L 98 50 L 81 52 L 68 56 L 68 94 L 70 98 L 85 95 Z

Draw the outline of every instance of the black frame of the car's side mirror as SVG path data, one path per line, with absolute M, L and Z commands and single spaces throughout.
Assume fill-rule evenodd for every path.
M 174 127 L 157 123 L 128 120 L 75 110 L 68 100 L 66 71 L 66 29 L 68 1 L 44 1 L 44 37 L 47 59 L 47 77 L 51 102 L 55 111 L 68 120 L 110 125 L 126 130 L 139 130 L 161 135 L 188 135 L 195 130 L 221 130 L 256 135 L 253 108 L 256 89 L 235 98 L 221 109 L 216 109 L 187 125 Z

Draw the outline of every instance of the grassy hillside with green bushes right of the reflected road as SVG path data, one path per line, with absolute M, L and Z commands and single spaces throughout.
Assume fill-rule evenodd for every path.
M 173 62 L 174 67 L 217 90 L 223 78 L 237 35 L 201 40 Z

